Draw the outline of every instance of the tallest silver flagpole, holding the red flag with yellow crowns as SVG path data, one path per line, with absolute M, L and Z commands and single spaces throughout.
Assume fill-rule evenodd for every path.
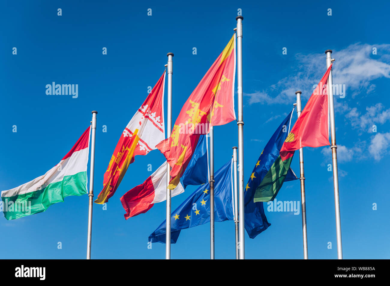
M 239 189 L 239 256 L 245 259 L 244 233 L 244 116 L 243 116 L 243 16 L 237 16 L 237 93 L 238 93 L 238 189 Z

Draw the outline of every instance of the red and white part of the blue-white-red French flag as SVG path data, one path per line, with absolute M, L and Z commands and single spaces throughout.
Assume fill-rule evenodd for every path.
M 179 183 L 172 191 L 171 197 L 184 192 Z M 140 184 L 121 198 L 123 208 L 126 211 L 125 219 L 144 214 L 149 211 L 154 203 L 160 203 L 167 199 L 167 161 L 163 163 L 143 184 Z

